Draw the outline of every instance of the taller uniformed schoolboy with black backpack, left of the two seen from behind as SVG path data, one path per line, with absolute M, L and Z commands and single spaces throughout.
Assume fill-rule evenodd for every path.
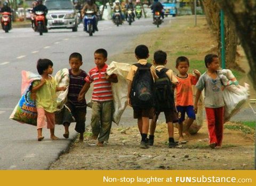
M 155 114 L 154 80 L 157 79 L 155 67 L 147 62 L 148 47 L 139 45 L 135 48 L 135 57 L 138 63 L 132 65 L 127 80 L 128 104 L 133 108 L 133 117 L 138 119 L 138 128 L 141 134 L 140 148 L 148 148 L 149 119 Z

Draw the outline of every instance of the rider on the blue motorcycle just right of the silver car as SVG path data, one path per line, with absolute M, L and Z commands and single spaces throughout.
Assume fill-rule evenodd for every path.
M 92 21 L 93 23 L 93 28 L 96 30 L 96 31 L 99 31 L 98 30 L 98 27 L 97 27 L 97 17 L 96 17 L 96 14 L 97 14 L 97 5 L 95 3 L 93 3 L 92 0 L 87 0 L 87 3 L 84 5 L 83 9 L 81 10 L 82 14 L 83 14 L 83 23 L 84 23 L 84 31 L 88 31 L 87 30 L 87 22 L 85 21 L 85 13 L 87 10 L 91 10 L 94 12 L 95 16 L 94 16 L 94 19 Z

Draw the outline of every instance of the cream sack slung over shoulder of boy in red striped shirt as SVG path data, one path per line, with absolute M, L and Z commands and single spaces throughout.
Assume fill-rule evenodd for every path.
M 112 120 L 117 125 L 119 124 L 121 116 L 128 103 L 127 92 L 129 82 L 126 80 L 126 77 L 130 69 L 131 64 L 118 63 L 115 61 L 112 61 L 107 68 L 107 74 L 116 74 L 118 79 L 118 83 L 111 83 L 114 99 L 114 110 Z

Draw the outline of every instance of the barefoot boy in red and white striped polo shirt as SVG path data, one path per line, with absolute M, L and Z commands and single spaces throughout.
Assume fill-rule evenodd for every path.
M 94 63 L 96 67 L 89 71 L 85 78 L 85 85 L 78 96 L 78 101 L 82 101 L 86 92 L 93 83 L 92 93 L 92 118 L 91 127 L 93 139 L 98 138 L 98 146 L 102 147 L 104 141 L 108 141 L 113 109 L 113 94 L 111 90 L 111 82 L 117 83 L 116 75 L 108 76 L 106 74 L 108 65 L 108 53 L 105 49 L 100 48 L 94 52 Z

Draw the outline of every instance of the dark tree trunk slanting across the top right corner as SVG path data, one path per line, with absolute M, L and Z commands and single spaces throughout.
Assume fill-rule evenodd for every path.
M 218 0 L 236 33 L 249 61 L 250 73 L 256 89 L 256 2 L 255 0 Z

